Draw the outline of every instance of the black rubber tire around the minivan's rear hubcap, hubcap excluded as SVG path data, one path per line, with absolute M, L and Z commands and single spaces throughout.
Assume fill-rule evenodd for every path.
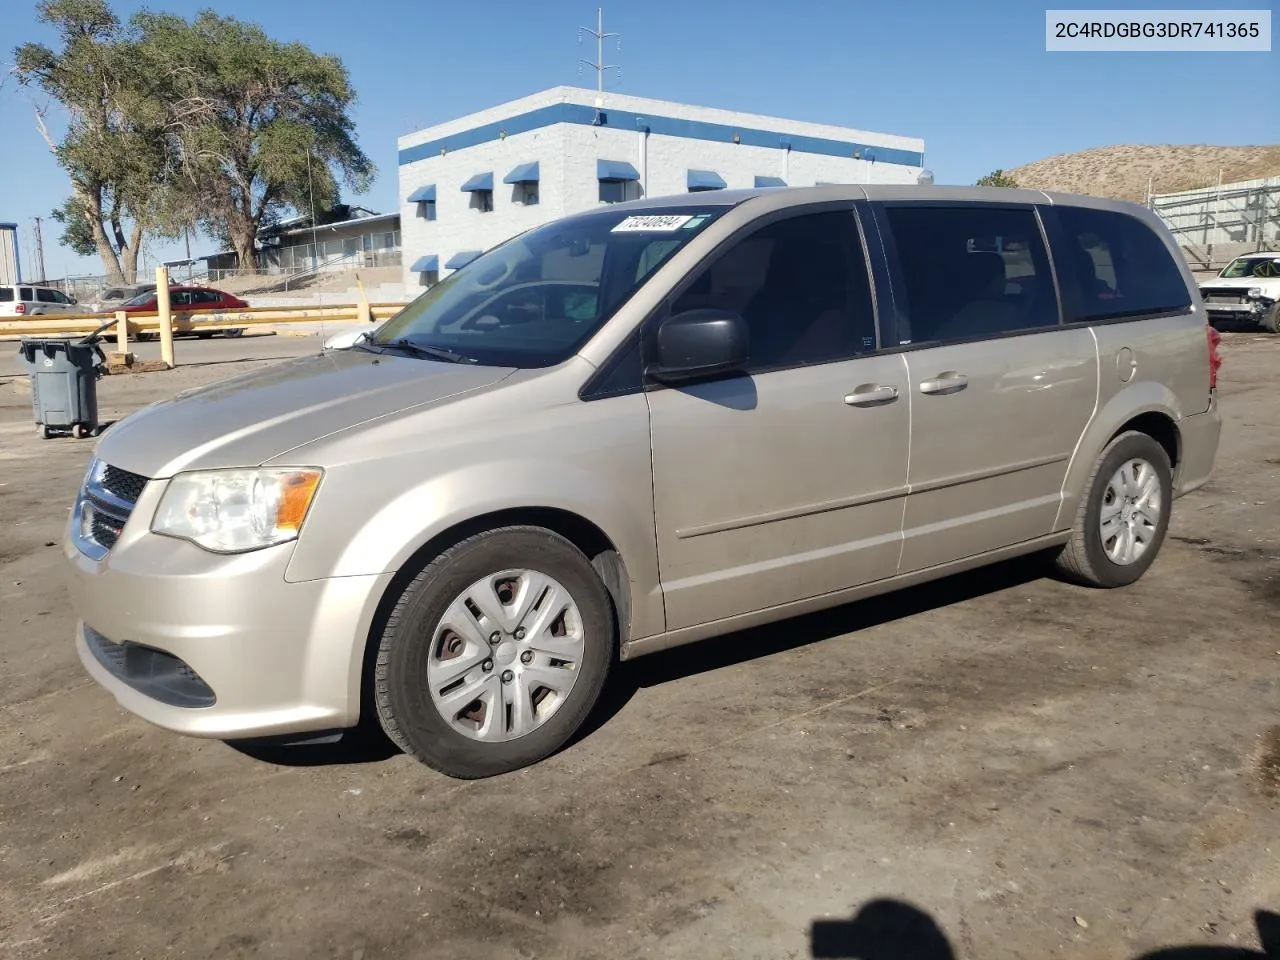
M 1144 460 L 1155 467 L 1160 481 L 1161 511 L 1156 532 L 1143 554 L 1133 563 L 1120 564 L 1107 556 L 1098 521 L 1111 476 L 1130 460 Z M 1174 492 L 1169 454 L 1144 433 L 1137 430 L 1123 433 L 1102 451 L 1084 489 L 1085 495 L 1080 499 L 1075 524 L 1071 526 L 1071 539 L 1055 561 L 1057 570 L 1068 580 L 1085 586 L 1103 589 L 1128 586 L 1146 573 L 1155 562 L 1169 531 Z

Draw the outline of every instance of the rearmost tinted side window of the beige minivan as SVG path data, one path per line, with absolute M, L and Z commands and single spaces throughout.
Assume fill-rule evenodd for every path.
M 1056 207 L 1066 250 L 1055 255 L 1075 294 L 1074 320 L 1185 310 L 1190 294 L 1156 233 L 1128 214 Z

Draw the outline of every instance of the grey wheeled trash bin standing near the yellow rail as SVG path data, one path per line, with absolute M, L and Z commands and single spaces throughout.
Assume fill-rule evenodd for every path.
M 40 435 L 76 438 L 99 431 L 97 379 L 106 357 L 97 337 L 83 340 L 23 338 L 18 352 L 31 370 L 31 406 Z

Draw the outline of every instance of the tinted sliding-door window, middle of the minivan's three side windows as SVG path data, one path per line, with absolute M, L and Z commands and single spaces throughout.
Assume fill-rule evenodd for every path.
M 1056 326 L 1057 293 L 1029 209 L 890 206 L 905 298 L 899 342 L 934 343 Z

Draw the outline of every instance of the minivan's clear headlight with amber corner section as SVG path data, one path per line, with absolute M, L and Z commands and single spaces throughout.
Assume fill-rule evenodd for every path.
M 243 553 L 298 535 L 320 470 L 209 470 L 178 474 L 156 508 L 151 532 L 214 553 Z

